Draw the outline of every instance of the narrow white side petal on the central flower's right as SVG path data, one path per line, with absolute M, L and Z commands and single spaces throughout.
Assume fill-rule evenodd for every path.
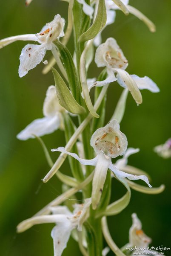
M 133 175 L 133 174 L 129 174 L 123 171 L 120 171 L 119 169 L 117 169 L 116 166 L 114 166 L 112 163 L 109 166 L 109 169 L 116 174 L 119 177 L 122 178 L 128 178 L 129 180 L 143 180 L 145 181 L 145 183 L 147 183 L 147 185 L 151 188 L 152 186 L 150 185 L 149 181 L 148 181 L 148 177 L 145 175 Z

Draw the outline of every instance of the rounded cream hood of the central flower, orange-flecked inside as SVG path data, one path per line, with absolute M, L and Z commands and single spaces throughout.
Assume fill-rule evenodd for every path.
M 105 156 L 115 158 L 125 154 L 128 142 L 117 120 L 112 120 L 94 132 L 90 144 L 97 154 L 102 151 Z

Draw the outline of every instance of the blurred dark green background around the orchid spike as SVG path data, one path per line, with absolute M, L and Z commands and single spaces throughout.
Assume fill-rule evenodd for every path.
M 103 41 L 114 37 L 129 61 L 128 72 L 149 76 L 160 87 L 160 93 L 143 90 L 143 104 L 137 107 L 128 96 L 121 131 L 128 138 L 128 146 L 139 147 L 140 152 L 131 156 L 129 164 L 148 172 L 151 184 L 166 185 L 160 195 L 145 195 L 132 191 L 129 206 L 114 217 L 108 218 L 111 235 L 119 247 L 128 242 L 131 213 L 143 223 L 143 230 L 153 239 L 153 246 L 171 247 L 171 160 L 158 157 L 153 148 L 171 137 L 171 1 L 130 0 L 157 26 L 151 34 L 136 17 L 125 17 L 117 11 L 114 24 L 103 32 Z M 34 0 L 26 8 L 24 0 L 0 1 L 0 38 L 11 35 L 39 32 L 57 13 L 67 20 L 68 4 L 58 0 Z M 36 140 L 19 141 L 16 134 L 32 120 L 42 117 L 42 105 L 46 90 L 54 84 L 53 76 L 43 76 L 43 64 L 22 79 L 18 76 L 19 55 L 27 42 L 15 42 L 0 50 L 0 255 L 3 256 L 51 256 L 53 243 L 50 236 L 53 224 L 37 225 L 22 234 L 16 234 L 16 226 L 23 219 L 34 215 L 49 201 L 61 193 L 61 183 L 56 177 L 47 184 L 41 179 L 49 167 Z M 72 41 L 68 48 L 72 49 Z M 46 59 L 51 56 L 48 51 Z M 89 77 L 98 76 L 100 70 L 91 65 Z M 122 88 L 111 84 L 108 90 L 106 122 L 111 117 Z M 43 137 L 48 149 L 64 146 L 64 134 L 58 130 Z M 56 153 L 51 153 L 57 158 Z M 67 162 L 61 171 L 70 173 Z M 125 191 L 113 180 L 112 198 L 120 198 Z M 73 239 L 63 253 L 80 255 Z M 113 255 L 110 253 L 109 255 Z M 169 255 L 165 253 L 165 255 Z

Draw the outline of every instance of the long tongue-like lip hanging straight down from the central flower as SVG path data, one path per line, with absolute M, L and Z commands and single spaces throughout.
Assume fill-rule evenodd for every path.
M 96 209 L 103 191 L 108 166 L 110 165 L 111 158 L 106 157 L 103 152 L 99 153 L 97 158 L 97 164 L 94 172 L 93 183 L 92 183 L 92 208 Z

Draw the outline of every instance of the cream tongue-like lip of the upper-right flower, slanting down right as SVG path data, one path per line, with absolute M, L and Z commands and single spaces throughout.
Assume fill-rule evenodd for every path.
M 117 72 L 117 82 L 123 87 L 126 86 L 131 92 L 135 102 L 137 104 L 141 104 L 142 95 L 134 79 L 125 70 L 121 70 L 119 68 L 115 68 L 113 70 Z

